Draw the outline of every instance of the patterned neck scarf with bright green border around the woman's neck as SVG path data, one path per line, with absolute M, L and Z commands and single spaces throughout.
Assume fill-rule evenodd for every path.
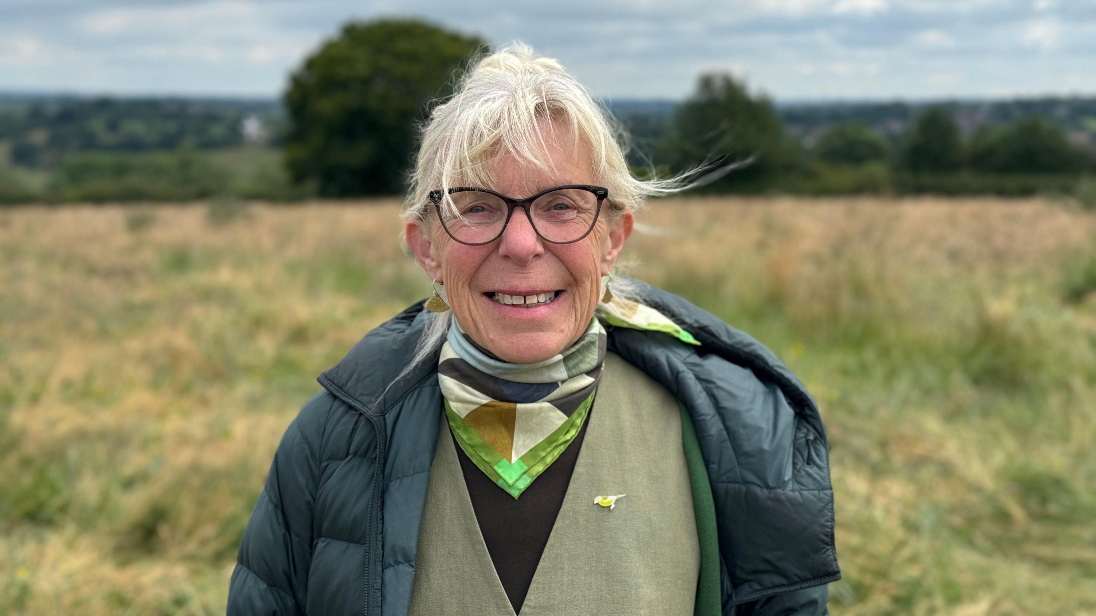
M 515 499 L 559 458 L 586 420 L 607 343 L 598 317 L 699 344 L 658 310 L 613 298 L 598 305 L 585 333 L 562 353 L 513 364 L 477 345 L 453 319 L 437 366 L 445 415 L 468 458 Z

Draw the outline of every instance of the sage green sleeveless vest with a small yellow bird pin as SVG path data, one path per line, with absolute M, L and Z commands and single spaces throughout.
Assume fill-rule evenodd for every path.
M 700 546 L 682 415 L 662 385 L 609 353 L 567 495 L 522 616 L 694 612 Z M 411 616 L 514 616 L 453 440 L 431 465 Z M 626 494 L 610 510 L 597 497 Z

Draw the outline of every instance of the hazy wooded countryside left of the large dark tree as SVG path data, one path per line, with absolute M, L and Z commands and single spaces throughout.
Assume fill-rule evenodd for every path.
M 300 197 L 283 133 L 271 101 L 3 96 L 0 203 Z

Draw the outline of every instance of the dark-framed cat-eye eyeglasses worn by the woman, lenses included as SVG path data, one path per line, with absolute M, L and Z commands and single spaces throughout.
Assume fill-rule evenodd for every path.
M 449 189 L 453 210 L 442 208 L 441 190 L 430 193 L 442 227 L 449 237 L 468 246 L 483 246 L 502 237 L 515 207 L 525 209 L 529 225 L 540 239 L 551 243 L 573 243 L 590 235 L 608 190 L 602 186 L 568 184 L 516 199 L 487 189 Z

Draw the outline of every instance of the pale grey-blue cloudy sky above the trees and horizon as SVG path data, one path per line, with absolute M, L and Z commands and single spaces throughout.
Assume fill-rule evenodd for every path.
M 0 91 L 271 96 L 381 15 L 525 41 L 606 98 L 710 70 L 781 101 L 1096 94 L 1096 0 L 0 0 Z

